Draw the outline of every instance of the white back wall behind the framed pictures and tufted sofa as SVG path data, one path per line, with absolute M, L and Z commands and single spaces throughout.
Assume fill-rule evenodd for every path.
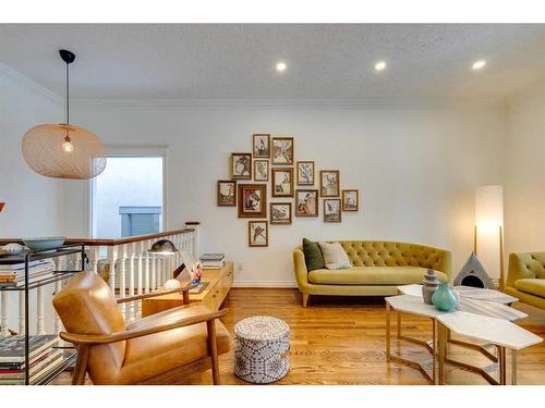
M 293 285 L 291 249 L 314 239 L 399 239 L 446 247 L 455 270 L 472 248 L 476 186 L 501 183 L 502 106 L 201 106 L 74 103 L 74 123 L 109 145 L 168 146 L 167 227 L 198 220 L 203 251 L 241 261 L 239 285 Z M 294 218 L 270 226 L 268 248 L 247 247 L 247 220 L 216 207 L 216 181 L 231 151 L 251 151 L 252 133 L 295 137 L 298 160 L 339 169 L 361 190 L 361 210 L 341 224 Z M 270 188 L 269 188 L 270 190 Z M 68 190 L 69 235 L 85 235 L 86 188 Z M 280 201 L 280 199 L 277 199 Z M 320 203 L 322 206 L 322 203 Z

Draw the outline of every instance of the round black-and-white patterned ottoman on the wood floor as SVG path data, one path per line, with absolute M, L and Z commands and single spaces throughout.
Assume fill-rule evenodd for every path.
M 251 383 L 280 380 L 290 369 L 290 326 L 268 316 L 234 325 L 234 373 Z

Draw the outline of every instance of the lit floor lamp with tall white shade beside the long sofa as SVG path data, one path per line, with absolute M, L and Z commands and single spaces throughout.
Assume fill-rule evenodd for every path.
M 498 185 L 482 186 L 475 193 L 475 230 L 473 235 L 473 252 L 477 254 L 479 232 L 489 232 L 494 236 L 497 231 L 499 239 L 499 289 L 504 290 L 504 188 Z

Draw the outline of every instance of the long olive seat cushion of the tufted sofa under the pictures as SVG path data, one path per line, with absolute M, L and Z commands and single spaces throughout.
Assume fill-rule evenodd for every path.
M 426 273 L 417 267 L 353 267 L 338 271 L 318 269 L 308 273 L 308 281 L 322 285 L 409 285 L 420 284 Z M 447 275 L 435 271 L 440 282 Z

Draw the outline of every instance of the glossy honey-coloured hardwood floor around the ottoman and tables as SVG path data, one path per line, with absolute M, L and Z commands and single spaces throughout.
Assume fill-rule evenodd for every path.
M 291 369 L 276 384 L 428 384 L 415 369 L 385 357 L 385 307 L 382 298 L 312 297 L 310 307 L 301 306 L 296 289 L 234 288 L 225 304 L 229 313 L 223 323 L 232 333 L 234 324 L 247 317 L 268 314 L 284 320 L 291 327 Z M 545 311 L 517 304 L 529 318 L 518 323 L 545 337 Z M 431 338 L 427 319 L 403 316 L 403 334 Z M 428 359 L 419 347 L 403 343 L 403 356 Z M 400 349 L 396 342 L 392 351 Z M 489 360 L 468 349 L 451 346 L 451 356 L 462 361 L 482 363 Z M 508 360 L 509 364 L 509 360 Z M 545 384 L 545 344 L 519 354 L 519 384 Z M 233 351 L 220 357 L 222 384 L 247 384 L 233 373 Z M 56 383 L 66 384 L 69 373 Z M 449 384 L 487 384 L 481 376 L 447 366 Z M 187 378 L 184 384 L 211 384 L 211 373 Z

